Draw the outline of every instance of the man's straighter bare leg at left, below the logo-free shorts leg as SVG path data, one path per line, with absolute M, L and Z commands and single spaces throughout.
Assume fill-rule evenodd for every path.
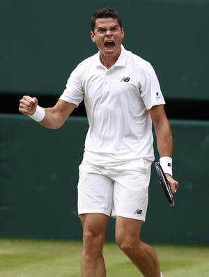
M 82 214 L 82 277 L 105 277 L 102 249 L 109 217 L 104 214 Z

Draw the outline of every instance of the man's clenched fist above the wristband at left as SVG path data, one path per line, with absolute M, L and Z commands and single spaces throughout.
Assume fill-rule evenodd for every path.
M 38 100 L 36 97 L 23 96 L 20 100 L 19 111 L 25 115 L 32 115 L 36 112 Z

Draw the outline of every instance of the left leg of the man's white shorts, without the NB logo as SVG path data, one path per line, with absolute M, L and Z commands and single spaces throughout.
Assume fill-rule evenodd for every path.
M 79 166 L 78 212 L 99 213 L 110 216 L 113 207 L 113 181 L 102 168 L 94 165 Z

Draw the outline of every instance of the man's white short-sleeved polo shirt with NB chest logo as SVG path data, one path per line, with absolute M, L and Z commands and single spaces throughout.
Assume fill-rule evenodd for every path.
M 154 160 L 148 110 L 165 103 L 160 84 L 148 61 L 121 47 L 109 69 L 99 52 L 79 63 L 60 97 L 75 105 L 84 100 L 89 123 L 84 158 L 96 165 Z

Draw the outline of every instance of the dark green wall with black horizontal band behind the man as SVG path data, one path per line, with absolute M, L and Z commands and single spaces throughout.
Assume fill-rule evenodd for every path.
M 0 237 L 82 239 L 84 105 L 59 130 L 42 128 L 18 106 L 23 95 L 43 107 L 56 103 L 75 66 L 98 51 L 90 20 L 109 5 L 121 14 L 125 48 L 155 68 L 173 130 L 176 206 L 153 168 L 142 239 L 209 244 L 208 0 L 0 0 Z M 107 240 L 114 240 L 112 219 Z

